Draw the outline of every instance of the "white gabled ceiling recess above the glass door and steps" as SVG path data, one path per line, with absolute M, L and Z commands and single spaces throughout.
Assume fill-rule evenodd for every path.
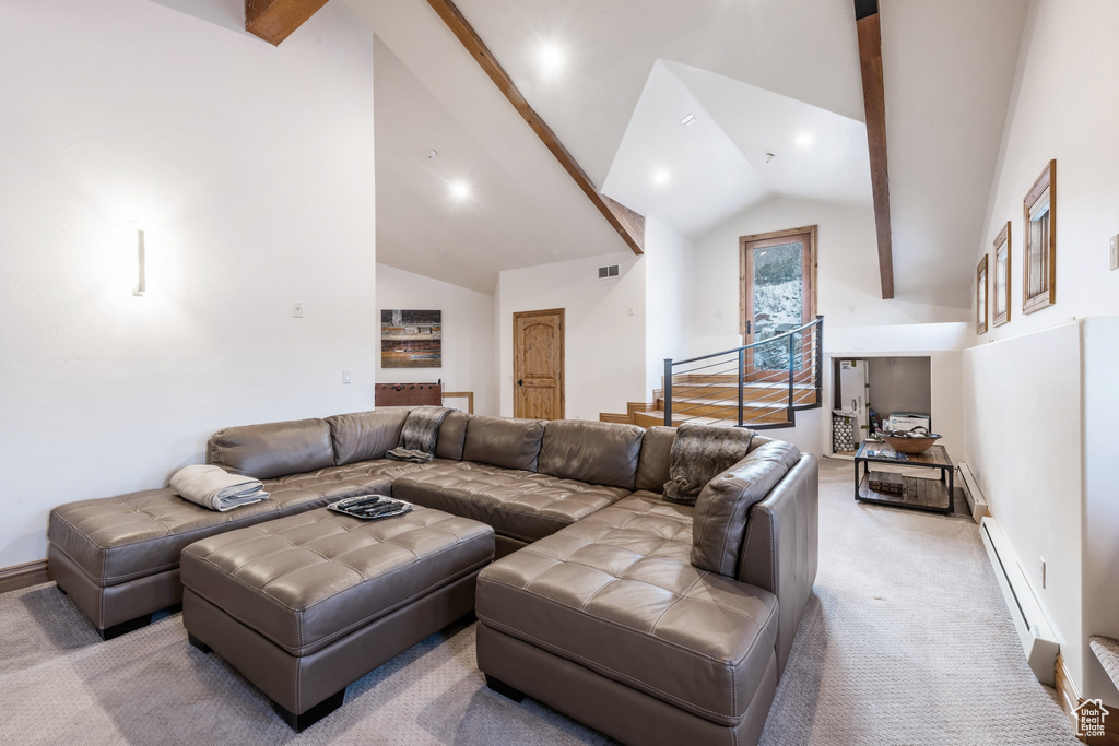
M 658 60 L 603 191 L 692 237 L 774 196 L 867 207 L 866 126 L 725 75 Z

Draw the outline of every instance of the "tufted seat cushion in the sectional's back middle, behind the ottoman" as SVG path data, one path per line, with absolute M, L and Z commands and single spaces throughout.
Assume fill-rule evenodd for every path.
M 555 533 L 627 494 L 617 487 L 470 461 L 431 462 L 393 483 L 393 497 L 480 520 L 520 541 Z

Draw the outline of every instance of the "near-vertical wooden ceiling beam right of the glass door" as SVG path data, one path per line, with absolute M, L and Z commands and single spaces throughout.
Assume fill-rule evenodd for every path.
M 866 142 L 871 151 L 871 187 L 878 235 L 882 298 L 894 296 L 894 254 L 890 233 L 890 178 L 886 169 L 886 98 L 882 85 L 882 27 L 877 0 L 855 0 L 858 58 L 863 67 Z

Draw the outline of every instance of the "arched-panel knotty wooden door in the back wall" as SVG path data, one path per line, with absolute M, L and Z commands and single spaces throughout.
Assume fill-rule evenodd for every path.
M 563 419 L 563 309 L 513 314 L 513 416 Z

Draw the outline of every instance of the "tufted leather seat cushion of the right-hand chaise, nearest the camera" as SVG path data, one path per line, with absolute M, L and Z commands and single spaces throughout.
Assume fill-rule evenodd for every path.
M 706 720 L 742 720 L 777 597 L 693 567 L 692 509 L 636 492 L 478 577 L 478 618 Z

